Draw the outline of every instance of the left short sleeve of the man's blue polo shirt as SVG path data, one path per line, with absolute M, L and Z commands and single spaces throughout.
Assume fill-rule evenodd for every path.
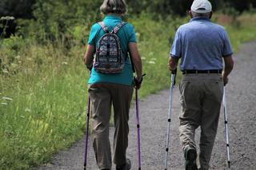
M 175 36 L 174 42 L 170 48 L 170 56 L 172 57 L 182 57 L 182 42 L 181 42 L 181 34 L 180 30 L 178 29 Z

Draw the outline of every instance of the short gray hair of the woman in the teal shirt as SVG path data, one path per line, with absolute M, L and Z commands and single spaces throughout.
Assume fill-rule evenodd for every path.
M 127 6 L 125 0 L 104 0 L 100 10 L 103 14 L 126 14 Z

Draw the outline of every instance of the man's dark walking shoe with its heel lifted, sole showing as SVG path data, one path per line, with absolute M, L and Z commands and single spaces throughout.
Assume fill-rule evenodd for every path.
M 188 145 L 184 150 L 185 160 L 186 160 L 186 170 L 198 170 L 196 163 L 197 151 L 194 147 Z

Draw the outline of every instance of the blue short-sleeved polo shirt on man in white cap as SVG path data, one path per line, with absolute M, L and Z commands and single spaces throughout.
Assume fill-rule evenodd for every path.
M 226 30 L 208 18 L 192 18 L 180 26 L 170 49 L 171 57 L 181 58 L 181 70 L 222 69 L 222 57 L 232 54 Z

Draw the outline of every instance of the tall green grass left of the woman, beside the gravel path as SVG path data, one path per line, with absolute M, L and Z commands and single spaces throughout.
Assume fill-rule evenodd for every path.
M 0 52 L 12 63 L 0 76 L 0 169 L 28 169 L 82 135 L 88 76 L 82 50 L 71 58 L 62 46 L 31 43 L 11 53 L 12 43 L 21 45 L 11 38 Z

